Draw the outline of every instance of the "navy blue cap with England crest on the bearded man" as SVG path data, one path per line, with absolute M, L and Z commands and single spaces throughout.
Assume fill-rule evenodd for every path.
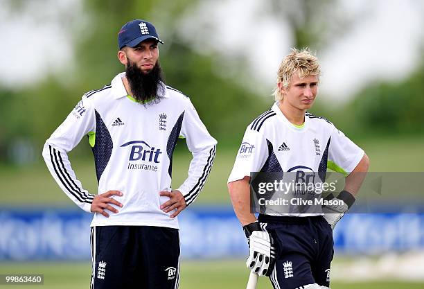
M 122 26 L 121 30 L 119 30 L 118 46 L 119 49 L 122 49 L 123 46 L 135 47 L 137 44 L 147 39 L 154 39 L 164 44 L 164 42 L 159 39 L 159 35 L 153 24 L 148 21 L 134 19 Z

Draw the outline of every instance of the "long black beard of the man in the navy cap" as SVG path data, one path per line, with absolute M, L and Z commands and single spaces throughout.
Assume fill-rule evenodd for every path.
M 159 103 L 165 93 L 162 69 L 159 61 L 156 62 L 152 70 L 144 73 L 134 62 L 128 60 L 125 67 L 125 76 L 127 77 L 132 96 L 143 103 L 143 105 Z

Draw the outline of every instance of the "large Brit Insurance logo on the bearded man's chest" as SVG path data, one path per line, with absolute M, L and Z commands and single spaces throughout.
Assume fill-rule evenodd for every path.
M 121 148 L 125 147 L 131 148 L 127 166 L 129 170 L 157 171 L 163 153 L 160 148 L 150 146 L 145 141 L 128 141 L 121 145 Z

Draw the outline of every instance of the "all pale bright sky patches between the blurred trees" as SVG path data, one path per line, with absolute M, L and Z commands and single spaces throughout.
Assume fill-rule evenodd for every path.
M 0 85 L 33 85 L 73 60 L 72 29 L 88 25 L 80 0 L 30 1 L 0 10 Z M 215 71 L 269 96 L 281 59 L 293 46 L 290 28 L 266 14 L 265 1 L 204 0 L 178 21 L 179 37 L 198 53 L 220 55 Z M 415 0 L 340 0 L 338 11 L 360 15 L 351 30 L 317 51 L 321 94 L 343 103 L 364 85 L 405 78 L 423 56 L 424 5 Z M 70 9 L 70 7 L 72 9 Z M 35 16 L 34 16 L 35 15 Z M 160 25 L 157 25 L 160 26 Z M 6 45 L 5 45 L 6 44 Z M 240 69 L 240 60 L 247 69 Z

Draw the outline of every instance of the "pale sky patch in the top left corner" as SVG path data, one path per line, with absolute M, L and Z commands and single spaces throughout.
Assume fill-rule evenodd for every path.
M 86 23 L 80 0 L 24 3 L 19 12 L 0 9 L 0 85 L 10 88 L 33 85 L 47 72 L 70 67 L 69 26 Z

